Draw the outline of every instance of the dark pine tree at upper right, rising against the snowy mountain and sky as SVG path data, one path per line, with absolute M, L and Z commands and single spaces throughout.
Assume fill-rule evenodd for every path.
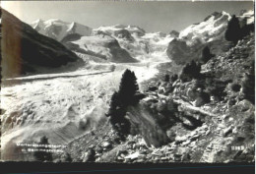
M 233 15 L 231 20 L 228 22 L 227 29 L 224 32 L 224 37 L 227 41 L 233 41 L 235 44 L 241 37 L 239 21 L 235 15 Z

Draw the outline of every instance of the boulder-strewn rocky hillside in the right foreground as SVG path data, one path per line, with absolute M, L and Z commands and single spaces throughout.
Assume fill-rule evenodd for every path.
M 60 160 L 69 155 L 83 162 L 90 156 L 96 162 L 253 163 L 255 35 L 250 32 L 235 46 L 216 51 L 200 65 L 200 77 L 166 80 L 162 66 L 155 78 L 144 82 L 146 97 L 127 108 L 131 135 L 125 140 L 117 138 L 108 123 L 68 144 Z

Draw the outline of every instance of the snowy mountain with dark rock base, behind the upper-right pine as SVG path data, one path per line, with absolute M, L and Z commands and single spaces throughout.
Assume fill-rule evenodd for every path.
M 254 13 L 242 12 L 237 18 L 241 23 L 249 25 L 254 21 Z M 168 57 L 177 64 L 185 64 L 199 59 L 206 46 L 216 55 L 227 51 L 232 43 L 224 39 L 224 31 L 230 19 L 230 15 L 225 12 L 215 12 L 203 22 L 181 30 L 179 37 L 168 44 Z

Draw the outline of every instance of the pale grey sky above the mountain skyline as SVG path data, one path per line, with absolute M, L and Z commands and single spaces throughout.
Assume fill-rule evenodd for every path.
M 252 1 L 1 1 L 1 7 L 25 23 L 60 19 L 96 29 L 134 25 L 148 32 L 181 30 L 214 12 L 239 14 L 253 9 Z

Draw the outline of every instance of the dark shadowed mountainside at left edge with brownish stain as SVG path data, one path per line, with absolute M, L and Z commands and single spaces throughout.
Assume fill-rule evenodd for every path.
M 79 59 L 59 42 L 39 34 L 3 9 L 2 35 L 4 77 L 35 71 L 34 66 L 56 68 Z

